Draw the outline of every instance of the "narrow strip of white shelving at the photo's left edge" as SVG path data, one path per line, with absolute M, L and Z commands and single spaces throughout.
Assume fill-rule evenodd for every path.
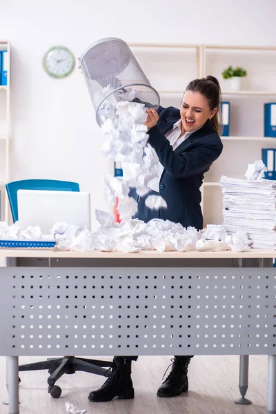
M 5 184 L 9 181 L 10 152 L 10 42 L 0 40 L 0 50 L 8 50 L 7 86 L 0 85 L 0 189 L 1 220 L 8 221 L 8 197 Z

